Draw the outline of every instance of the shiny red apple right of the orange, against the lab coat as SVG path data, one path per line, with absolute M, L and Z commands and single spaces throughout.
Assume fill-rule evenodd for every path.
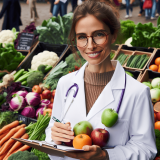
M 104 147 L 109 139 L 109 132 L 102 128 L 96 128 L 91 133 L 91 139 L 94 145 Z

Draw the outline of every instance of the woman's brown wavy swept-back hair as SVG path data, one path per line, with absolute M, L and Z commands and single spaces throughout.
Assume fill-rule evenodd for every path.
M 77 6 L 74 11 L 72 26 L 69 33 L 69 43 L 71 44 L 71 49 L 75 53 L 76 48 L 74 47 L 75 41 L 75 26 L 76 23 L 81 19 L 86 17 L 88 14 L 95 16 L 98 20 L 106 24 L 111 34 L 114 34 L 115 31 L 120 29 L 119 21 L 119 10 L 114 4 L 114 2 L 108 0 L 87 0 L 81 5 Z

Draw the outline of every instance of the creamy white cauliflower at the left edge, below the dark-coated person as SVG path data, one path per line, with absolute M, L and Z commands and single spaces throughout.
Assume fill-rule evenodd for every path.
M 2 30 L 0 32 L 0 43 L 3 44 L 3 47 L 5 47 L 7 43 L 13 44 L 13 41 L 14 33 L 11 30 Z

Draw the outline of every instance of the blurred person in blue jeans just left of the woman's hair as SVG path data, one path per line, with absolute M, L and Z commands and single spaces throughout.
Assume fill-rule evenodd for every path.
M 57 17 L 58 12 L 60 12 L 61 16 L 67 14 L 67 4 L 67 0 L 56 0 L 53 7 L 53 16 Z

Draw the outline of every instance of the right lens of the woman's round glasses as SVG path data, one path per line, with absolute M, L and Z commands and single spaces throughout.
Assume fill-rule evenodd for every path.
M 104 32 L 98 31 L 94 33 L 93 40 L 96 44 L 103 44 L 107 40 L 107 36 Z

